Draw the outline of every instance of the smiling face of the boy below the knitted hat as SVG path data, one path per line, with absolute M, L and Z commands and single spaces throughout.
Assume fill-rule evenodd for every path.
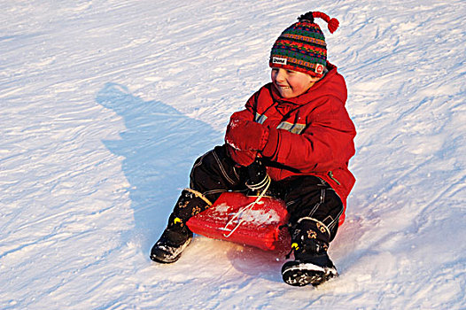
M 320 80 L 320 78 L 309 74 L 279 67 L 272 68 L 271 76 L 273 84 L 283 98 L 298 97 Z

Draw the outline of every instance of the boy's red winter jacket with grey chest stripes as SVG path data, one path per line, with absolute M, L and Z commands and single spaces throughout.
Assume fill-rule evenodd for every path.
M 266 84 L 231 119 L 255 120 L 273 129 L 262 151 L 281 164 L 268 167 L 273 180 L 315 175 L 330 184 L 346 207 L 355 182 L 348 161 L 354 155 L 356 130 L 345 108 L 345 80 L 336 66 L 327 63 L 327 68 L 324 78 L 299 97 L 285 99 L 272 83 Z

